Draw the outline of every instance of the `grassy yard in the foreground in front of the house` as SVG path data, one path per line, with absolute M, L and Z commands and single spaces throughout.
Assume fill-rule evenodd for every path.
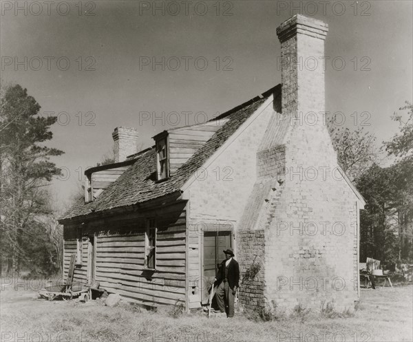
M 171 310 L 150 312 L 129 303 L 47 301 L 25 288 L 1 288 L 1 341 L 413 341 L 413 286 L 361 290 L 354 316 L 320 312 L 255 322 L 243 314 L 208 319 Z

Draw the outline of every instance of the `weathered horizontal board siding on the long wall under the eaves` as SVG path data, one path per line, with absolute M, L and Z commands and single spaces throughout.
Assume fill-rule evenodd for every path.
M 96 281 L 108 292 L 146 305 L 186 302 L 187 226 L 185 203 L 162 209 L 129 213 L 94 220 L 85 224 L 83 235 L 95 235 Z M 145 264 L 147 218 L 155 217 L 156 270 Z M 72 231 L 70 231 L 72 228 Z M 65 226 L 65 259 L 76 252 L 72 239 L 74 227 Z M 70 248 L 69 248 L 70 247 Z M 87 263 L 87 246 L 83 250 Z M 67 272 L 65 267 L 65 272 Z M 83 266 L 82 266 L 83 268 Z M 87 267 L 75 271 L 76 279 L 85 279 Z

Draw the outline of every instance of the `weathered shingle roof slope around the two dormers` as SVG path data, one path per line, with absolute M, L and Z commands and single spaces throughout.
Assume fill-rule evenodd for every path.
M 275 91 L 280 92 L 280 88 L 277 86 Z M 61 220 L 87 215 L 92 211 L 96 213 L 131 206 L 179 191 L 189 177 L 202 167 L 202 164 L 264 103 L 271 93 L 265 92 L 263 98 L 254 98 L 215 118 L 226 117 L 229 120 L 168 180 L 156 182 L 156 151 L 153 148 L 149 149 L 136 156 L 134 164 L 110 184 L 94 202 L 85 204 L 83 197 L 79 198 Z

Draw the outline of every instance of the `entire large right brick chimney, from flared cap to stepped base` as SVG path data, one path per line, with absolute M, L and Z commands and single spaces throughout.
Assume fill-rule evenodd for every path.
M 260 220 L 249 226 L 242 221 L 237 232 L 242 276 L 257 270 L 240 288 L 247 310 L 275 301 L 291 311 L 330 303 L 341 312 L 359 298 L 363 203 L 340 176 L 324 118 L 327 32 L 326 23 L 300 15 L 277 28 L 282 121 L 275 132 L 286 133 L 257 154 L 261 178 L 248 204 L 260 210 Z

